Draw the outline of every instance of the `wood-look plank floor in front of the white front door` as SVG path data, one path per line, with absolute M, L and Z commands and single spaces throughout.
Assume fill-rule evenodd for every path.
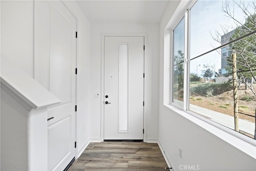
M 167 171 L 157 143 L 90 143 L 71 171 Z

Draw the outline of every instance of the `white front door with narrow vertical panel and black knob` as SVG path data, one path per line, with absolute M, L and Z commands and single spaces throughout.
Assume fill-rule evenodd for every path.
M 143 140 L 144 37 L 104 37 L 104 140 Z

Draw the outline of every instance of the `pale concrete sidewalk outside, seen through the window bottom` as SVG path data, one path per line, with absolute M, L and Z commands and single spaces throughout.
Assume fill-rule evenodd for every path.
M 212 111 L 192 104 L 190 104 L 190 110 L 209 117 L 211 118 L 210 120 L 220 123 L 221 125 L 234 129 L 234 117 L 230 115 L 225 115 L 223 113 Z M 239 119 L 239 129 L 254 135 L 255 123 Z

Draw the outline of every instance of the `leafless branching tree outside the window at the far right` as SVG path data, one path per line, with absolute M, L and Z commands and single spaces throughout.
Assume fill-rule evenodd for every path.
M 244 13 L 243 21 L 236 18 L 234 9 L 237 8 Z M 230 55 L 227 58 L 222 57 L 228 64 L 226 70 L 232 73 L 233 60 L 231 54 L 235 53 L 236 72 L 239 78 L 237 82 L 245 84 L 256 96 L 256 87 L 252 85 L 253 80 L 256 80 L 256 2 L 226 0 L 222 3 L 221 11 L 224 12 L 226 17 L 231 18 L 234 24 L 233 26 L 222 25 L 222 33 L 216 30 L 215 36 L 212 35 L 212 38 L 220 44 L 232 42 L 226 46 Z M 232 31 L 228 32 L 230 29 Z M 248 83 L 250 79 L 252 80 L 251 86 Z M 256 128 L 254 139 L 256 139 Z

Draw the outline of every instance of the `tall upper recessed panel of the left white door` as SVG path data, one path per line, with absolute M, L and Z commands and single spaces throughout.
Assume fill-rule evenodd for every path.
M 72 25 L 54 6 L 50 7 L 50 91 L 61 100 L 71 99 Z M 56 22 L 58 21 L 58 22 Z M 61 28 L 61 31 L 60 31 Z M 58 66 L 58 67 L 56 67 Z

